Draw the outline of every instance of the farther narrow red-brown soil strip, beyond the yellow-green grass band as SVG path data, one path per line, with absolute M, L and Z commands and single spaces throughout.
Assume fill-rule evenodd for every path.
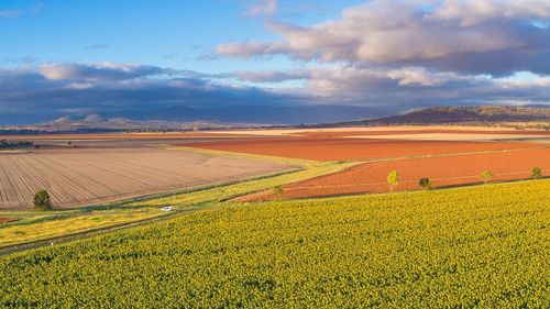
M 540 146 L 534 143 L 273 137 L 185 143 L 183 146 L 315 161 L 370 159 Z

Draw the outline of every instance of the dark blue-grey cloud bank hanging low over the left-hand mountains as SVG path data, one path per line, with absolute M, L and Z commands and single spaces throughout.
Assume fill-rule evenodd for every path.
M 297 96 L 136 64 L 42 64 L 0 69 L 0 113 L 59 115 L 168 107 L 277 106 Z

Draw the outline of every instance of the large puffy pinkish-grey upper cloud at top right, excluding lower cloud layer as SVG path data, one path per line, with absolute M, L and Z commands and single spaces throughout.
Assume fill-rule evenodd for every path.
M 309 26 L 270 23 L 279 41 L 226 43 L 216 52 L 493 75 L 549 74 L 550 29 L 540 26 L 548 21 L 550 1 L 544 0 L 374 0 Z

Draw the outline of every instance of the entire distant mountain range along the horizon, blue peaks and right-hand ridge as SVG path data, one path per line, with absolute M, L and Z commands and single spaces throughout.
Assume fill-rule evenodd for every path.
M 174 107 L 160 110 L 76 113 L 19 129 L 77 130 L 188 130 L 253 128 L 265 125 L 352 126 L 392 124 L 458 124 L 549 122 L 549 106 L 532 107 L 438 107 L 385 117 L 386 108 L 346 106 L 299 107 Z M 382 117 L 382 118 L 381 118 Z M 353 120 L 362 119 L 362 120 Z M 352 121 L 350 121 L 352 120 Z M 320 124 L 316 124 L 320 123 Z

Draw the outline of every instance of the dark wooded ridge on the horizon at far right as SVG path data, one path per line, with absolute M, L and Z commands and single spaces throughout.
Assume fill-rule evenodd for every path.
M 327 126 L 550 122 L 550 107 L 438 107 L 399 115 L 330 123 Z

